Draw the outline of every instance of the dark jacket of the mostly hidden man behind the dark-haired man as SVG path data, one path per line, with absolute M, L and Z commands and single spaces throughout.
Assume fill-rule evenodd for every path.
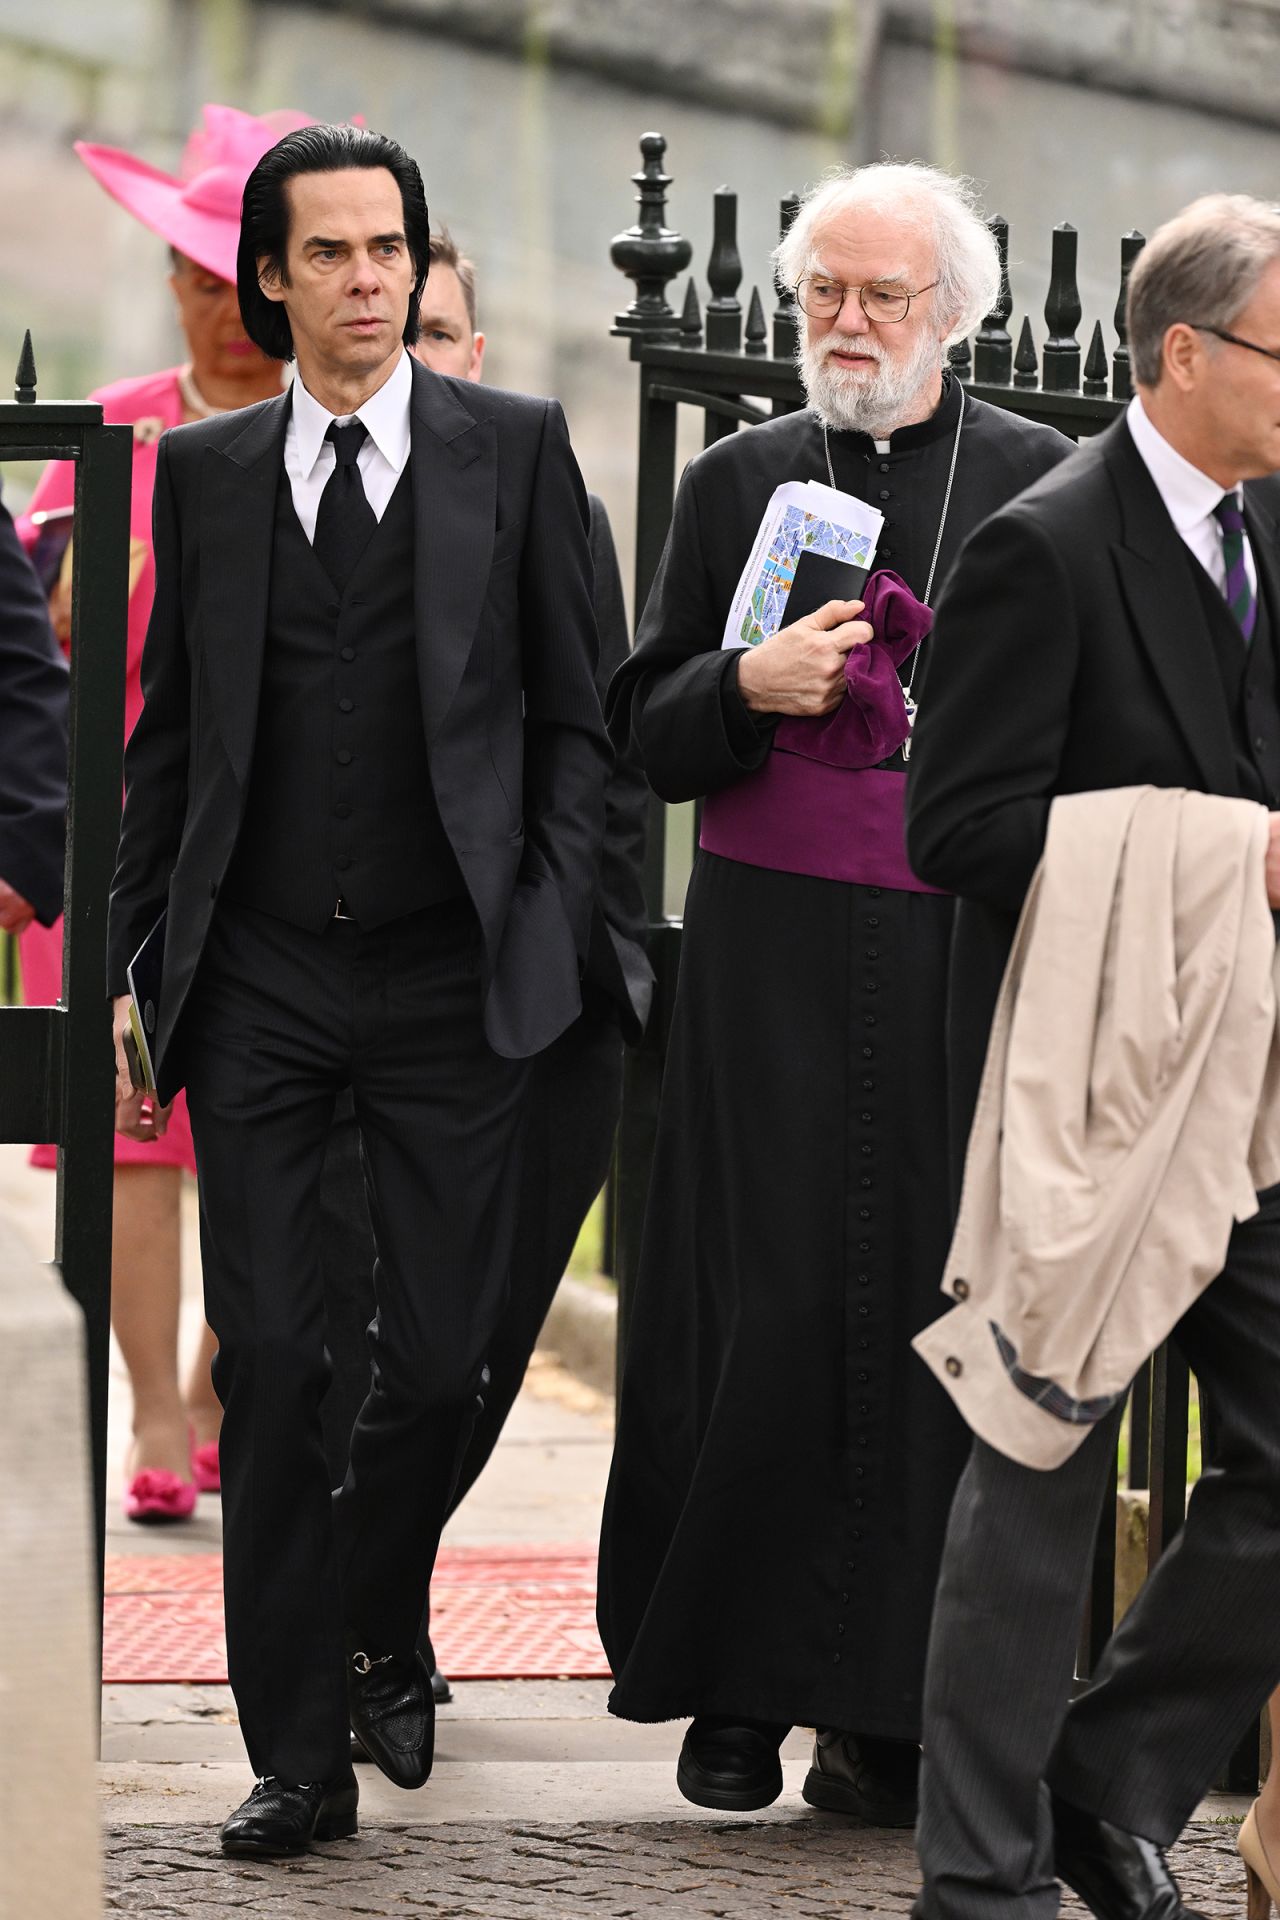
M 614 536 L 597 493 L 591 509 L 591 566 L 595 574 L 595 624 L 601 659 L 595 685 L 604 703 L 608 682 L 631 653 L 628 614 Z M 585 981 L 604 993 L 622 1016 L 622 1031 L 637 1041 L 652 1002 L 652 968 L 645 952 L 649 912 L 641 864 L 649 824 L 649 781 L 633 745 L 624 745 L 604 789 L 604 847 L 601 885 L 591 914 Z

